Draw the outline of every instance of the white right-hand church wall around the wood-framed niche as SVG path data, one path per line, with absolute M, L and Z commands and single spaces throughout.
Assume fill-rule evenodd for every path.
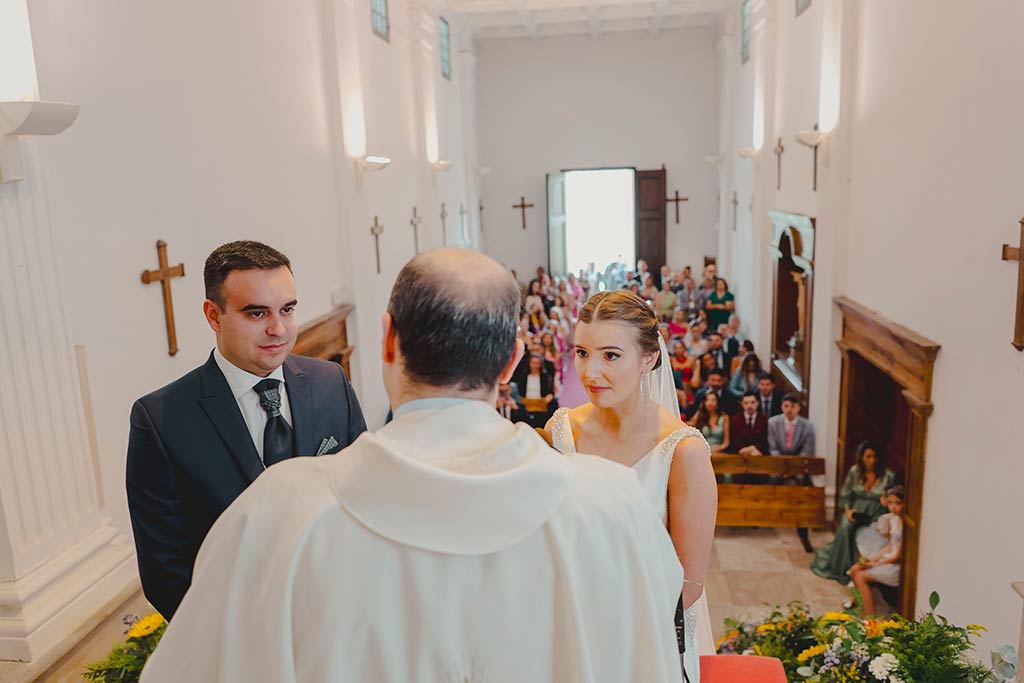
M 979 646 L 987 659 L 989 648 L 1018 641 L 1020 605 L 1010 582 L 1024 575 L 1016 514 L 1024 480 L 1024 354 L 1010 345 L 1017 270 L 999 260 L 1000 245 L 1016 244 L 1022 214 L 1014 169 L 1024 137 L 1014 132 L 1024 118 L 1024 96 L 1013 27 L 1024 20 L 1024 8 L 1012 0 L 985 7 L 925 0 L 848 7 L 844 20 L 852 19 L 855 33 L 844 50 L 843 114 L 815 194 L 811 151 L 793 134 L 817 120 L 829 1 L 813 3 L 800 17 L 792 3 L 777 3 L 778 121 L 775 135 L 766 135 L 766 145 L 780 135 L 786 146 L 776 207 L 820 219 L 812 422 L 831 483 L 840 362 L 834 296 L 850 297 L 941 344 L 918 604 L 927 608 L 936 590 L 943 614 L 988 627 Z M 940 35 L 955 35 L 955 48 L 936 41 Z M 737 100 L 743 88 L 740 83 Z M 741 127 L 738 103 L 736 111 Z M 759 172 L 774 179 L 775 160 L 767 159 Z M 735 181 L 743 182 L 741 174 Z M 733 244 L 737 264 L 751 257 L 741 240 Z

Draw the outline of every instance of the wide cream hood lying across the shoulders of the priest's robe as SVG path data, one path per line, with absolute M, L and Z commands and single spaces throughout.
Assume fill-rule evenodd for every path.
M 402 415 L 362 434 L 332 467 L 339 504 L 380 536 L 483 555 L 550 519 L 574 480 L 569 459 L 523 424 L 467 400 Z

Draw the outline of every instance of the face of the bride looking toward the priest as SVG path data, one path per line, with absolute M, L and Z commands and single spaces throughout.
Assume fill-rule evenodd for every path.
M 595 405 L 610 408 L 635 399 L 641 374 L 655 359 L 655 354 L 641 350 L 637 332 L 629 325 L 597 321 L 577 326 L 577 374 Z

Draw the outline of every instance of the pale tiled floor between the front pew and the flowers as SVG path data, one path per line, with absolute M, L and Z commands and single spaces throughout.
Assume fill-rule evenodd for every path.
M 815 548 L 831 540 L 830 531 L 810 533 Z M 755 618 L 791 600 L 807 602 L 813 614 L 840 609 L 849 591 L 811 573 L 813 557 L 796 529 L 720 527 L 705 582 L 715 638 L 725 632 L 727 616 Z

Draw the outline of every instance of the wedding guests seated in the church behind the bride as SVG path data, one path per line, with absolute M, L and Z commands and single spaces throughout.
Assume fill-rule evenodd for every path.
M 783 392 L 740 333 L 735 297 L 714 263 L 695 285 L 691 267 L 648 271 L 611 264 L 603 271 L 552 276 L 538 267 L 523 284 L 517 332 L 527 349 L 512 380 L 503 384 L 498 411 L 513 422 L 542 428 L 558 407 L 587 400 L 573 368 L 573 333 L 591 294 L 623 289 L 643 299 L 660 319 L 675 393 L 686 424 L 699 430 L 718 482 L 723 526 L 796 528 L 818 577 L 857 588 L 866 613 L 891 613 L 897 603 L 903 487 L 886 468 L 884 450 L 864 442 L 837 492 L 836 537 L 815 550 L 808 527 L 823 528 L 824 459 L 814 428 L 801 415 L 803 396 Z M 771 456 L 765 458 L 765 456 Z M 879 604 L 879 601 L 882 601 Z M 838 606 L 837 606 L 838 607 Z

